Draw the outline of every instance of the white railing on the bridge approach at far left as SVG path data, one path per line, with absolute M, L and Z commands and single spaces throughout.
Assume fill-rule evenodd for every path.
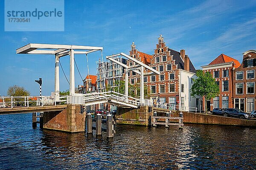
M 66 104 L 67 96 L 1 96 L 0 108 Z

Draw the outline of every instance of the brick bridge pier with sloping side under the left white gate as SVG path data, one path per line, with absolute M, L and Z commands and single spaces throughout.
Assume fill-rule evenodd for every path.
M 43 128 L 70 133 L 84 132 L 85 114 L 80 112 L 80 105 L 67 105 L 63 111 L 46 111 L 43 116 Z

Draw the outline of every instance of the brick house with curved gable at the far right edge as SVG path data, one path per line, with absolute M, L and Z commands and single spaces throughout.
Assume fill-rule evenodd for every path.
M 244 112 L 256 110 L 256 50 L 244 52 L 241 65 L 233 71 L 233 107 Z

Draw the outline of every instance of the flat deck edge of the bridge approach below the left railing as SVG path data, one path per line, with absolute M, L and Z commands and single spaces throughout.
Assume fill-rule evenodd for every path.
M 67 105 L 44 105 L 15 108 L 0 108 L 0 114 L 31 113 L 41 111 L 63 111 L 65 108 L 67 108 Z

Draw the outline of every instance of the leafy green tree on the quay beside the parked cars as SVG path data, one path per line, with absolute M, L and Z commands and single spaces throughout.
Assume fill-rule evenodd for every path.
M 202 70 L 196 72 L 197 79 L 193 79 L 193 85 L 189 90 L 191 96 L 204 96 L 204 101 L 209 100 L 213 97 L 220 94 L 219 86 L 215 82 L 215 79 L 212 78 L 212 75 L 209 72 L 204 73 Z M 204 108 L 206 112 L 206 108 Z

